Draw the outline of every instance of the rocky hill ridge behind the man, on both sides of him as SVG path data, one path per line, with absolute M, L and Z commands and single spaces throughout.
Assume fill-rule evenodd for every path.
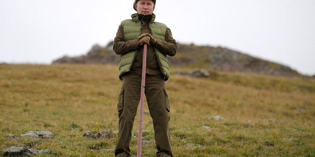
M 178 52 L 169 57 L 169 64 L 176 67 L 191 66 L 199 69 L 212 69 L 224 72 L 245 72 L 286 77 L 302 76 L 291 68 L 236 52 L 227 48 L 178 44 Z M 113 42 L 106 47 L 95 45 L 87 55 L 63 56 L 56 63 L 70 64 L 118 64 L 119 55 L 113 51 Z

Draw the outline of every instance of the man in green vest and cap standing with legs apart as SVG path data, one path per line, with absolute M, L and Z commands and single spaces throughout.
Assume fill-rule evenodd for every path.
M 143 44 L 148 45 L 145 96 L 153 120 L 157 157 L 173 157 L 169 134 L 169 101 L 165 81 L 169 78 L 166 55 L 174 56 L 177 44 L 171 30 L 155 22 L 156 0 L 135 0 L 129 20 L 118 28 L 114 51 L 120 54 L 119 78 L 122 88 L 118 99 L 119 133 L 116 157 L 130 157 L 129 143 L 141 95 Z

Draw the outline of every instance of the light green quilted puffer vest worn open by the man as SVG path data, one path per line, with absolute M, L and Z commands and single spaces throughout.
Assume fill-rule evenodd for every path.
M 155 14 L 152 14 L 152 20 L 149 24 L 150 29 L 152 31 L 152 35 L 159 40 L 165 41 L 165 34 L 167 30 L 167 26 L 154 22 Z M 124 27 L 124 38 L 125 41 L 137 39 L 140 35 L 141 30 L 141 22 L 138 20 L 138 14 L 132 14 L 132 19 L 124 20 L 121 25 Z M 137 51 L 128 52 L 126 54 L 122 54 L 119 58 L 119 78 L 130 71 L 131 65 L 137 55 Z M 164 80 L 168 80 L 169 78 L 169 66 L 166 55 L 161 53 L 158 49 L 154 48 L 155 54 L 158 59 L 158 64 L 161 73 L 164 75 Z

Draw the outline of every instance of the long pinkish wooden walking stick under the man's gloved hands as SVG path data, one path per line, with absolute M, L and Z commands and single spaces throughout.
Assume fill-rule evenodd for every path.
M 147 65 L 147 44 L 143 45 L 143 59 L 142 59 L 142 77 L 141 77 L 141 96 L 140 96 L 140 120 L 138 133 L 138 152 L 137 157 L 141 157 L 142 145 L 142 122 L 143 122 L 143 106 L 144 106 L 144 87 L 146 83 L 146 65 Z

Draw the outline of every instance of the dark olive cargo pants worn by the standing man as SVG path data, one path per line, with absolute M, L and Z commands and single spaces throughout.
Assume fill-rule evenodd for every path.
M 130 157 L 129 143 L 140 95 L 141 76 L 123 76 L 118 99 L 119 133 L 115 156 Z M 162 76 L 146 75 L 145 96 L 153 120 L 157 157 L 172 157 L 169 134 L 170 104 Z

